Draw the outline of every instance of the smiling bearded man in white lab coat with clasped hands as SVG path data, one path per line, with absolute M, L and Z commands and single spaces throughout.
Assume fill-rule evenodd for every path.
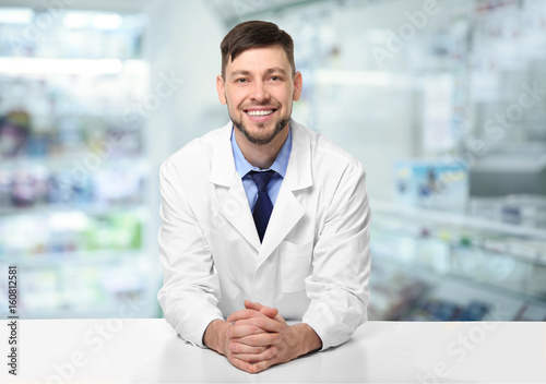
M 183 339 L 257 373 L 367 320 L 370 211 L 360 164 L 290 119 L 292 37 L 246 22 L 221 50 L 232 121 L 162 166 L 158 299 Z

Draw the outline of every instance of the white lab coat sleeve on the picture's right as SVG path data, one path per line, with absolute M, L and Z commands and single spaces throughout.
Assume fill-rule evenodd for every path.
M 349 167 L 327 207 L 306 278 L 310 299 L 302 322 L 322 340 L 322 350 L 347 341 L 367 321 L 370 221 L 366 173 Z

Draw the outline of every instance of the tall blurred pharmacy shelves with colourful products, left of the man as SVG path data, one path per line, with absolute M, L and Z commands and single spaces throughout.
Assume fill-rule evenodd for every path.
M 135 316 L 156 316 L 150 147 L 134 110 L 149 88 L 145 17 L 59 10 L 40 38 L 17 39 L 43 11 L 10 12 L 0 20 L 0 266 L 17 267 L 17 314 L 109 317 L 131 302 Z

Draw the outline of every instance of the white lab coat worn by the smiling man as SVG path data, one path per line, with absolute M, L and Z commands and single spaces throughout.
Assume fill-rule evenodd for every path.
M 286 176 L 260 244 L 229 141 L 233 123 L 197 139 L 161 168 L 158 300 L 186 340 L 245 299 L 309 324 L 322 349 L 367 320 L 370 209 L 365 170 L 290 120 Z

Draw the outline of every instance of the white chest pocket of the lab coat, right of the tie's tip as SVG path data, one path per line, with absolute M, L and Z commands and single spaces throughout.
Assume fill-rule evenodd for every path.
M 304 290 L 305 278 L 312 272 L 312 241 L 304 245 L 283 241 L 280 252 L 283 293 Z

